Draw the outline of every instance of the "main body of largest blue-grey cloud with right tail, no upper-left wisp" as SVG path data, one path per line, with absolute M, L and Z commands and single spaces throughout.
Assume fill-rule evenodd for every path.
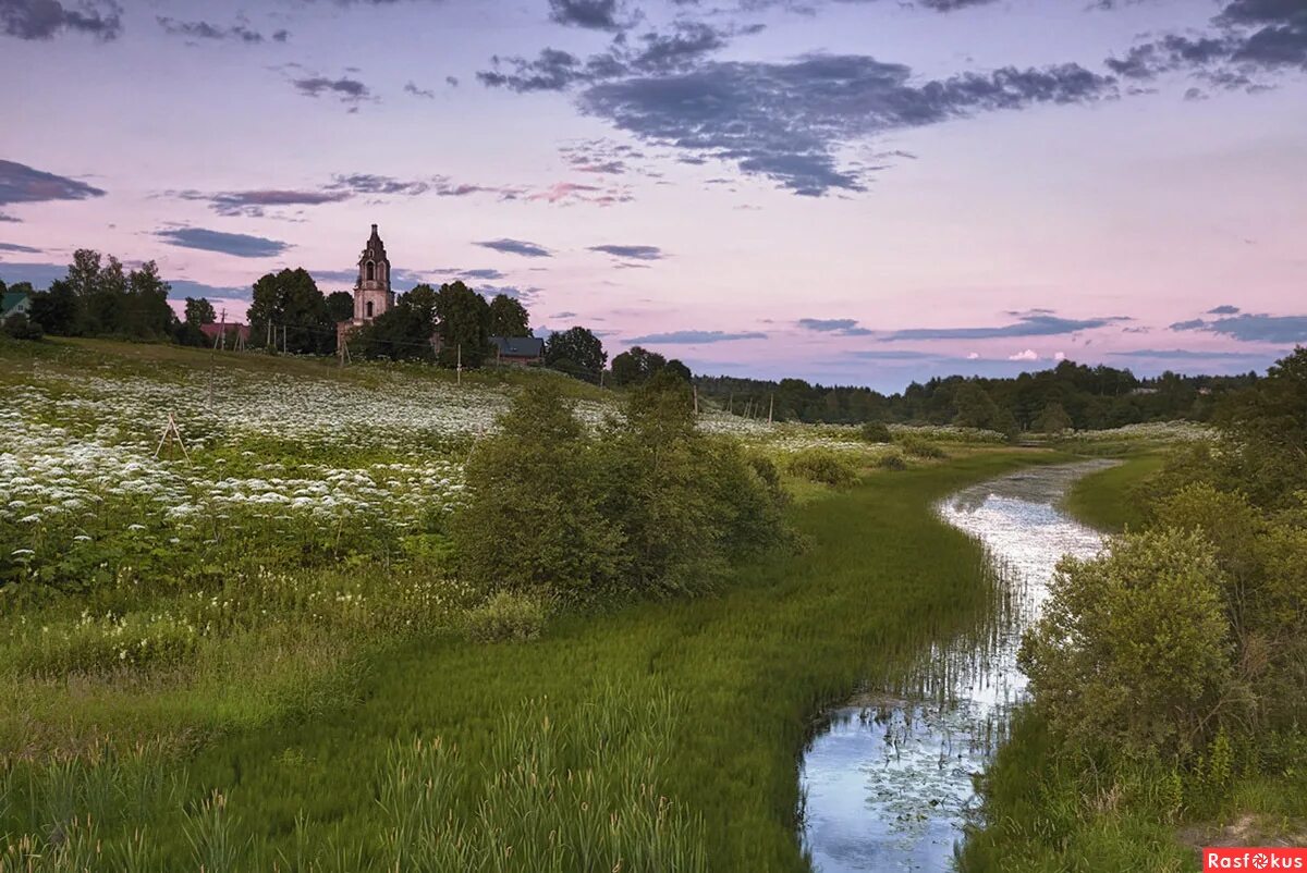
M 593 85 L 583 111 L 657 144 L 733 161 L 802 195 L 865 189 L 836 150 L 897 128 L 980 111 L 1074 103 L 1115 94 L 1112 80 L 1067 64 L 1004 68 L 912 84 L 903 64 L 861 55 L 793 63 L 708 63 L 673 76 Z

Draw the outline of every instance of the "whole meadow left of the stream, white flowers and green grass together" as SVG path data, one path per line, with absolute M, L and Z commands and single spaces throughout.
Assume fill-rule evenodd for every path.
M 548 374 L 0 354 L 13 869 L 801 870 L 809 719 L 995 608 L 933 501 L 1050 457 L 708 412 L 782 469 L 821 452 L 865 484 L 787 476 L 805 548 L 714 596 L 480 644 L 446 520 L 473 440 Z M 567 389 L 583 420 L 616 414 Z M 154 457 L 167 413 L 184 456 Z

